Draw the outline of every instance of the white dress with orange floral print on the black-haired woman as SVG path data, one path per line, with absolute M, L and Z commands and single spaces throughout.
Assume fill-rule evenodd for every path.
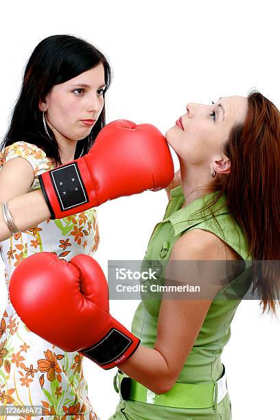
M 38 175 L 53 169 L 45 152 L 36 145 L 17 141 L 1 152 L 0 170 L 16 156 L 27 159 L 33 167 L 35 178 L 30 191 L 39 189 Z M 69 261 L 77 254 L 93 255 L 98 243 L 95 209 L 60 220 L 49 219 L 13 235 L 0 242 L 7 289 L 14 268 L 29 255 L 48 251 Z M 0 308 L 0 316 L 2 312 Z M 62 351 L 32 333 L 8 297 L 0 325 L 0 408 L 12 406 L 20 413 L 10 419 L 97 419 L 87 395 L 82 361 L 80 353 Z M 24 406 L 42 409 L 31 417 L 21 409 Z M 0 415 L 0 420 L 6 418 Z

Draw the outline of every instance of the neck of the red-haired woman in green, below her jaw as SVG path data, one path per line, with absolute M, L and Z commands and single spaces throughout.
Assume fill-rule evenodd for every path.
M 186 207 L 197 198 L 209 193 L 209 174 L 202 172 L 199 167 L 189 168 L 185 163 L 180 162 L 180 173 L 182 178 L 182 189 L 185 202 L 182 206 Z

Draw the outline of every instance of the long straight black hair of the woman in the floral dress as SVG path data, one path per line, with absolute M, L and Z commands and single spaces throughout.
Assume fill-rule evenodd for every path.
M 54 133 L 48 127 L 50 139 L 45 132 L 42 112 L 38 107 L 39 101 L 45 99 L 55 84 L 75 78 L 100 63 L 104 66 L 105 84 L 108 89 L 112 79 L 110 65 L 104 54 L 93 45 L 71 35 L 52 35 L 40 41 L 27 61 L 21 91 L 0 150 L 15 141 L 27 141 L 43 149 L 47 156 L 54 157 L 56 163 L 62 165 Z M 90 135 L 78 141 L 74 159 L 89 152 L 97 134 L 105 124 L 104 101 L 102 113 Z

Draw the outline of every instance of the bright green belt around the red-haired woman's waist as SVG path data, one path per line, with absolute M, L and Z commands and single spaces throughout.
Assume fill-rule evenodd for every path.
M 118 371 L 114 378 L 114 387 L 123 399 L 132 399 L 157 406 L 211 408 L 217 404 L 217 382 L 211 382 L 210 384 L 176 383 L 167 393 L 156 395 L 139 382 Z

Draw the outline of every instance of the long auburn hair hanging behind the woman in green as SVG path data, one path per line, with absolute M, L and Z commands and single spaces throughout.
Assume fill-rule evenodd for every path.
M 224 194 L 240 224 L 253 264 L 253 293 L 262 312 L 276 313 L 280 299 L 280 112 L 264 95 L 251 91 L 243 124 L 224 143 L 231 172 L 211 185 L 217 202 Z M 207 207 L 209 207 L 207 205 Z M 265 260 L 265 261 L 264 261 Z

